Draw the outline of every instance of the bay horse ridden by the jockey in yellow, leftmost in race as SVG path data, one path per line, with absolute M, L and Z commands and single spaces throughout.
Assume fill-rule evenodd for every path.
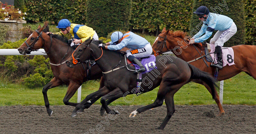
M 87 80 L 99 79 L 102 76 L 102 72 L 98 65 L 91 66 L 91 77 L 87 77 L 87 69 L 84 69 L 80 64 L 75 68 L 67 67 L 65 63 L 66 59 L 71 56 L 73 49 L 69 46 L 66 38 L 61 35 L 47 35 L 49 32 L 48 22 L 44 23 L 44 26 L 38 26 L 27 40 L 18 48 L 20 54 L 26 55 L 30 51 L 43 48 L 50 59 L 50 66 L 54 75 L 53 79 L 43 87 L 42 93 L 44 95 L 44 103 L 49 116 L 52 115 L 52 109 L 49 107 L 49 101 L 47 97 L 47 91 L 50 88 L 57 87 L 59 85 L 68 85 L 68 89 L 63 102 L 65 105 L 76 106 L 78 103 L 69 102 L 69 99 L 75 94 L 76 90 Z M 64 62 L 63 62 L 64 61 Z M 88 79 L 89 78 L 89 79 Z M 102 82 L 100 82 L 102 87 Z M 87 103 L 83 108 L 89 108 L 97 98 L 91 100 L 91 103 Z M 80 111 L 83 111 L 82 109 Z

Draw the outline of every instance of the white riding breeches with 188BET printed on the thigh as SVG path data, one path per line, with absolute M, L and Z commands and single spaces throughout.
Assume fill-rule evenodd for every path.
M 136 58 L 143 58 L 143 57 L 150 56 L 152 52 L 153 52 L 152 46 L 150 45 L 150 43 L 148 43 L 143 48 L 138 48 L 135 50 L 134 49 L 126 50 L 126 53 L 127 53 L 126 57 L 133 55 Z

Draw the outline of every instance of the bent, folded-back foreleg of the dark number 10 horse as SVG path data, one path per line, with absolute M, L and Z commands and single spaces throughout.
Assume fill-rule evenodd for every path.
M 109 92 L 108 94 L 104 95 L 101 98 L 101 116 L 105 113 L 105 111 L 102 109 L 104 108 L 106 112 L 109 114 L 110 112 L 114 112 L 115 114 L 119 114 L 117 111 L 112 111 L 111 109 L 108 108 L 108 104 L 111 102 L 115 101 L 118 98 L 123 97 L 123 92 L 120 90 L 120 88 L 116 88 L 113 91 Z M 108 100 L 108 102 L 106 102 Z

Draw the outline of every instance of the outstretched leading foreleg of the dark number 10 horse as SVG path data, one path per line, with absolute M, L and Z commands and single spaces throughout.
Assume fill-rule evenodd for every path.
M 76 116 L 76 111 L 79 110 L 80 108 L 82 108 L 83 105 L 88 103 L 87 101 L 89 101 L 93 98 L 96 98 L 96 97 L 102 97 L 102 96 L 108 94 L 109 92 L 110 92 L 110 90 L 104 86 L 103 88 L 99 89 L 98 91 L 87 95 L 83 101 L 81 101 L 78 105 L 76 105 L 76 108 L 73 110 L 71 117 Z

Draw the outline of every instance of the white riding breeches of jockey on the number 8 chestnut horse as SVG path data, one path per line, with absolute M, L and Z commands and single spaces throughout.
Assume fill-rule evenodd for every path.
M 237 31 L 236 24 L 233 22 L 229 29 L 224 31 L 217 31 L 213 38 L 210 40 L 210 44 L 216 46 L 223 46 L 226 41 L 228 41 Z

